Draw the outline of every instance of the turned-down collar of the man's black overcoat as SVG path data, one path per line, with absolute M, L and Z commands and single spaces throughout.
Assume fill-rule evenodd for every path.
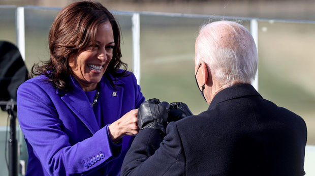
M 250 84 L 236 84 L 232 85 L 220 92 L 218 92 L 211 101 L 208 110 L 214 105 L 227 100 L 240 98 L 244 96 L 260 96 L 262 97 Z

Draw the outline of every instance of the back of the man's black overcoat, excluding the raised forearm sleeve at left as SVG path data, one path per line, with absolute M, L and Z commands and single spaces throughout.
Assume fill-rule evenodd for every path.
M 304 175 L 306 125 L 249 84 L 220 91 L 209 109 L 176 122 L 187 175 Z

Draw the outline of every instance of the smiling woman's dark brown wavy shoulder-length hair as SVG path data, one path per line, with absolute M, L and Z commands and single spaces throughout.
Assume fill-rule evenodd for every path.
M 126 74 L 128 66 L 120 60 L 120 30 L 118 23 L 113 15 L 98 2 L 73 3 L 58 13 L 49 32 L 50 59 L 34 64 L 30 77 L 44 74 L 56 88 L 62 91 L 70 91 L 73 88 L 69 79 L 71 68 L 68 59 L 70 55 L 86 48 L 90 42 L 95 46 L 98 26 L 107 21 L 112 25 L 115 46 L 105 76 L 115 88 L 114 80 L 111 79 L 109 73 L 114 79 L 128 76 Z M 121 66 L 123 70 L 119 71 Z

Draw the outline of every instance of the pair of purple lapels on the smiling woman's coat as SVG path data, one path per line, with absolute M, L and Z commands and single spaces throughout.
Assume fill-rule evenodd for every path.
M 57 89 L 56 94 L 61 96 L 61 100 L 64 101 L 90 132 L 94 134 L 100 129 L 96 116 L 80 84 L 73 76 L 70 77 L 73 90 L 64 92 Z M 102 118 L 112 118 L 112 116 L 120 117 L 124 82 L 117 79 L 114 83 L 116 89 L 110 85 L 105 75 L 100 81 L 99 101 L 101 102 Z

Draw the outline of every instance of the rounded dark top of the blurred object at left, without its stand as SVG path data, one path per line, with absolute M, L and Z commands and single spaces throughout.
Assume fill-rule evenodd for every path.
M 0 41 L 0 101 L 16 101 L 17 89 L 27 75 L 19 49 L 10 42 Z M 1 105 L 1 109 L 7 111 L 6 105 Z

